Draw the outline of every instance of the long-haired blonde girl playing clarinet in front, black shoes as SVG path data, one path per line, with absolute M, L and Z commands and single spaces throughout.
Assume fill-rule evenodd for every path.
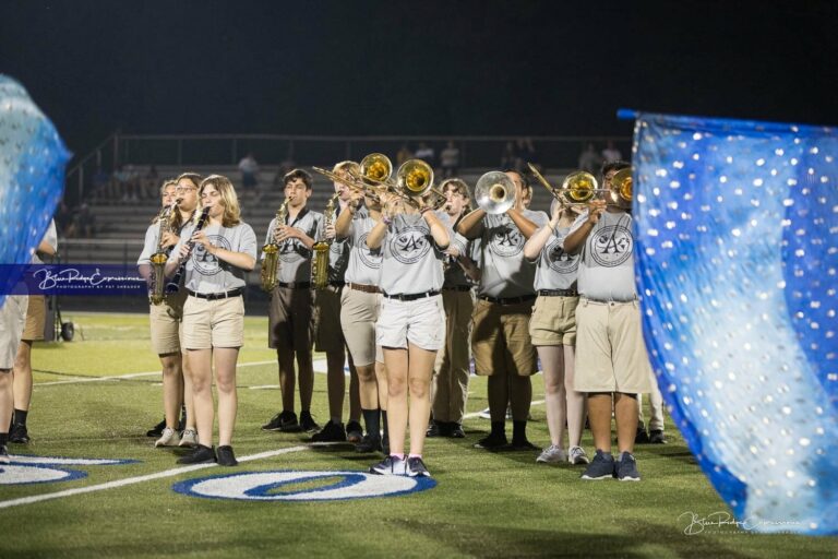
M 218 456 L 238 464 L 232 451 L 236 425 L 236 362 L 244 344 L 244 273 L 256 262 L 256 236 L 240 218 L 236 190 L 227 177 L 212 175 L 199 188 L 207 225 L 189 226 L 166 265 L 171 275 L 183 263 L 189 297 L 183 305 L 183 346 L 192 365 L 199 444 L 180 464 L 215 462 L 213 451 L 213 362 L 218 391 Z

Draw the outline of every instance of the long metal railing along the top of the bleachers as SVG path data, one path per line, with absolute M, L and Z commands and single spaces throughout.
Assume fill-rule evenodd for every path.
M 579 154 L 588 143 L 597 152 L 612 141 L 624 157 L 631 153 L 627 136 L 527 136 L 536 153 L 527 157 L 548 168 L 576 168 Z M 522 136 L 471 135 L 283 135 L 283 134 L 200 134 L 140 135 L 115 132 L 68 173 L 68 190 L 77 200 L 85 198 L 97 169 L 110 175 L 120 165 L 136 166 L 230 166 L 252 153 L 265 167 L 292 163 L 300 166 L 328 166 L 344 159 L 359 160 L 371 152 L 382 152 L 395 162 L 403 145 L 415 151 L 424 142 L 440 154 L 450 141 L 459 150 L 460 168 L 498 168 L 506 144 L 513 146 Z

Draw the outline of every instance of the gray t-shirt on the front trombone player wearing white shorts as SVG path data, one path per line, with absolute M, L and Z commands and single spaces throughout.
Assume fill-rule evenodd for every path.
M 442 251 L 420 214 L 398 214 L 382 243 L 381 290 L 388 295 L 439 292 L 442 288 Z

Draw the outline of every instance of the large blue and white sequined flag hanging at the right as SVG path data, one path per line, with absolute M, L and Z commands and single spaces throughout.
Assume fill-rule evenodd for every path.
M 737 520 L 838 534 L 838 134 L 635 114 L 644 337 Z

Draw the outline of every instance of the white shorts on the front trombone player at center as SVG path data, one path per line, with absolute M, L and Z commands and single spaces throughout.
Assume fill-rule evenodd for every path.
M 375 323 L 375 343 L 383 348 L 407 349 L 412 344 L 429 352 L 445 345 L 445 309 L 442 296 L 412 301 L 384 299 Z

